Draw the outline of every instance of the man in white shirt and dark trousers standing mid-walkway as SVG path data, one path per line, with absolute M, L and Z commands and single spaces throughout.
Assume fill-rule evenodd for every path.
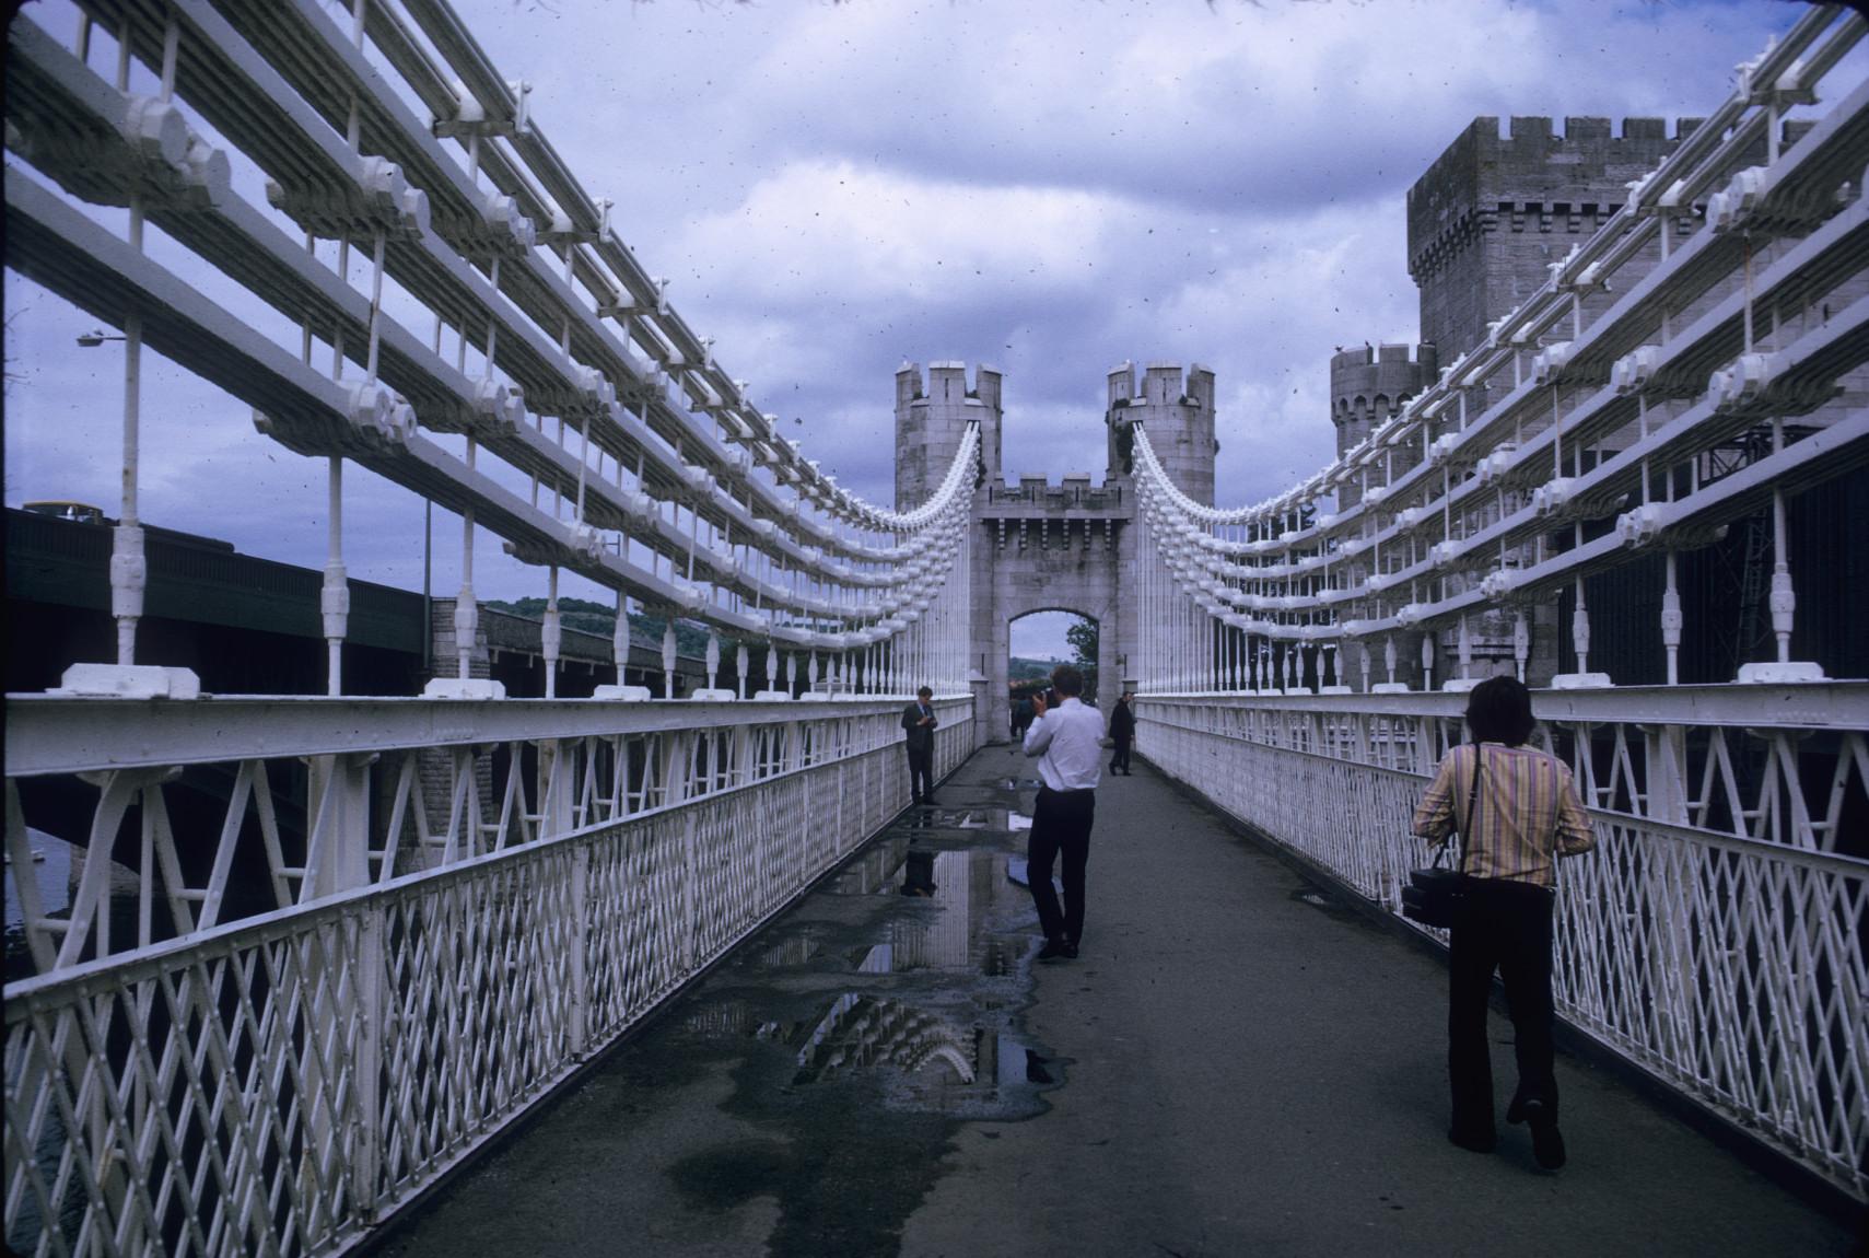
M 1084 864 L 1090 826 L 1097 819 L 1097 776 L 1103 770 L 1103 714 L 1084 707 L 1084 675 L 1069 664 L 1052 669 L 1058 705 L 1035 695 L 1035 718 L 1026 731 L 1026 755 L 1039 757 L 1037 806 L 1026 841 L 1026 879 L 1045 927 L 1039 961 L 1075 957 L 1084 936 Z M 1050 865 L 1063 856 L 1063 910 L 1050 884 Z

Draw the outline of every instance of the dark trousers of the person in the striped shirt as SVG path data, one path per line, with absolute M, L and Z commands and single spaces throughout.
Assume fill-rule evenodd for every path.
M 1557 1114 L 1551 1073 L 1551 905 L 1553 893 L 1529 882 L 1475 879 L 1448 942 L 1447 1075 L 1454 1094 L 1454 1131 L 1493 1131 L 1493 1064 L 1486 1045 L 1486 1006 L 1493 970 L 1505 979 L 1518 1056 L 1518 1097 L 1544 1101 Z

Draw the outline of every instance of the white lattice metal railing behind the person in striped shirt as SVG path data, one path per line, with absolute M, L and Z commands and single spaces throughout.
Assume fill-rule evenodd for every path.
M 1136 746 L 1400 914 L 1426 854 L 1409 821 L 1463 707 L 1144 695 Z M 1561 1017 L 1869 1196 L 1869 860 L 1837 851 L 1869 824 L 1869 684 L 1538 692 L 1534 710 L 1598 834 L 1559 871 Z

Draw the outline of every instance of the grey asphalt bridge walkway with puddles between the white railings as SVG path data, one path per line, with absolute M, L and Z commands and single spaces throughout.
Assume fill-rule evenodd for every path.
M 1448 1146 L 1439 961 L 1148 766 L 1099 793 L 1082 959 L 1034 965 L 1013 772 L 974 755 L 381 1252 L 1848 1249 L 1562 1054 L 1568 1168 Z

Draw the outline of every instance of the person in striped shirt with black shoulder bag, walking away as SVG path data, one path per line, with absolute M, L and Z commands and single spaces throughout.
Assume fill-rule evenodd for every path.
M 1447 1138 L 1490 1153 L 1493 1065 L 1486 1004 L 1493 970 L 1506 985 L 1519 1082 L 1508 1123 L 1531 1125 L 1538 1165 L 1564 1165 L 1551 1064 L 1551 916 L 1557 860 L 1596 845 L 1570 768 L 1525 746 L 1534 720 L 1531 693 L 1512 677 L 1490 677 L 1467 697 L 1467 746 L 1441 761 L 1415 809 L 1415 834 L 1447 843 L 1465 836 L 1460 869 L 1467 888 L 1448 936 L 1447 1073 L 1452 1125 Z M 1458 804 L 1458 811 L 1456 811 Z

